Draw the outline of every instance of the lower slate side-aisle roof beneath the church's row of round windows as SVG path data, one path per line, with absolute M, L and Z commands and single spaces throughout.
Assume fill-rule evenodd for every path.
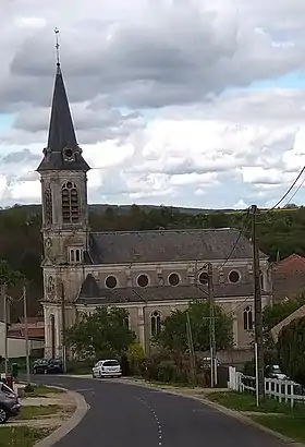
M 215 286 L 215 298 L 252 297 L 252 283 L 218 285 Z M 208 290 L 205 286 L 156 286 L 118 289 L 99 289 L 95 278 L 88 275 L 82 286 L 77 303 L 82 304 L 115 304 L 124 302 L 175 301 L 207 299 Z

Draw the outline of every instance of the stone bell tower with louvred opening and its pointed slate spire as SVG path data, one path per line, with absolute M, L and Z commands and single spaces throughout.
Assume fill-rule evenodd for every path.
M 57 56 L 48 143 L 37 168 L 42 198 L 45 302 L 59 300 L 62 285 L 65 300 L 73 301 L 81 281 L 77 271 L 88 251 L 89 231 L 87 172 L 90 167 L 76 141 L 58 40 Z

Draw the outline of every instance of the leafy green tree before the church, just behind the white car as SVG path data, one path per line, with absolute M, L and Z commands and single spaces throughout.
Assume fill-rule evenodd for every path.
M 99 307 L 68 329 L 68 343 L 83 359 L 120 355 L 134 341 L 127 327 L 129 313 L 119 307 Z

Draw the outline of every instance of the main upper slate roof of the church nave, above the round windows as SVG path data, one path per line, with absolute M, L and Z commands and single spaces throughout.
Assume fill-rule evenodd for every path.
M 235 229 L 109 231 L 90 233 L 89 240 L 94 264 L 245 259 L 252 250 Z

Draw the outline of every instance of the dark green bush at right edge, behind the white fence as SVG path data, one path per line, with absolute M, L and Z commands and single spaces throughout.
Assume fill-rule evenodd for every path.
M 295 318 L 282 328 L 277 350 L 282 371 L 305 386 L 305 317 Z

